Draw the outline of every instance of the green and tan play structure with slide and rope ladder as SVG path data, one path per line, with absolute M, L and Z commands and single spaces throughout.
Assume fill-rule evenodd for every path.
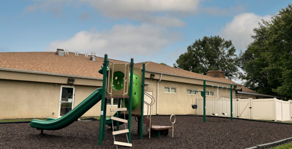
M 102 68 L 98 71 L 103 74 L 102 88 L 96 89 L 79 105 L 73 108 L 64 116 L 59 119 L 48 118 L 46 121 L 33 119 L 30 122 L 30 126 L 38 130 L 58 130 L 67 127 L 76 119 L 81 117 L 86 111 L 93 107 L 101 100 L 100 111 L 100 125 L 99 125 L 99 145 L 102 145 L 102 140 L 105 139 L 105 125 L 112 127 L 113 139 L 115 145 L 123 145 L 132 147 L 131 144 L 131 117 L 138 117 L 138 135 L 142 139 L 143 123 L 147 125 L 147 131 L 149 132 L 149 138 L 151 130 L 160 136 L 160 133 L 167 135 L 168 129 L 173 129 L 175 122 L 171 121 L 171 126 L 157 126 L 152 125 L 151 111 L 152 105 L 155 103 L 155 98 L 144 92 L 145 87 L 145 63 L 143 67 L 134 67 L 133 58 L 130 63 L 113 63 L 107 59 L 107 54 L 104 55 Z M 151 102 L 144 101 L 144 95 L 151 98 Z M 106 99 L 111 99 L 110 112 L 111 117 L 106 118 L 107 105 Z M 118 99 L 117 108 L 113 108 L 113 98 Z M 147 109 L 150 107 L 150 111 L 147 110 L 147 117 L 143 115 L 144 103 L 147 105 Z M 115 112 L 113 114 L 113 112 Z M 123 112 L 123 113 L 121 113 Z M 175 117 L 175 116 L 174 116 Z M 120 130 L 120 125 L 125 126 L 125 129 Z M 114 130 L 116 126 L 116 131 Z M 149 127 L 149 129 L 148 129 Z M 173 133 L 173 130 L 172 130 Z M 115 135 L 126 134 L 127 142 L 118 142 L 115 139 Z M 173 134 L 172 134 L 173 136 Z

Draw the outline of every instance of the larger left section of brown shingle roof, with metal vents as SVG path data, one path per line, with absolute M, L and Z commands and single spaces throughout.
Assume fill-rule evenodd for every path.
M 67 75 L 87 77 L 102 77 L 98 71 L 104 58 L 96 57 L 96 61 L 89 60 L 83 54 L 75 56 L 69 52 L 64 56 L 56 52 L 0 52 L 0 67 L 40 72 L 51 72 Z M 111 59 L 110 59 L 111 60 Z M 126 63 L 119 60 L 111 60 L 114 63 Z

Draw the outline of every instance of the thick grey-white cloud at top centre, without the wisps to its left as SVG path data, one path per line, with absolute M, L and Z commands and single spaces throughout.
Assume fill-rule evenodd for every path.
M 199 0 L 84 0 L 112 18 L 129 18 L 162 26 L 181 27 L 177 15 L 194 13 Z

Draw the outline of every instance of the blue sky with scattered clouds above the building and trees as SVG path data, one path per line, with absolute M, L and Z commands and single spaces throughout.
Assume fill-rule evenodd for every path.
M 203 36 L 232 40 L 239 52 L 261 19 L 291 1 L 23 0 L 1 1 L 0 52 L 96 52 L 170 66 Z

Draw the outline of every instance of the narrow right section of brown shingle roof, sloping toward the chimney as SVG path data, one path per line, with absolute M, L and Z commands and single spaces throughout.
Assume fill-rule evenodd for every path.
M 182 69 L 178 69 L 178 68 L 174 68 L 171 66 L 166 66 L 166 65 L 162 65 L 162 64 L 154 63 L 154 62 L 150 62 L 150 61 L 136 63 L 134 66 L 142 68 L 143 63 L 145 63 L 145 69 L 150 70 L 150 71 L 164 72 L 164 73 L 169 73 L 169 74 L 174 74 L 174 75 L 182 75 L 182 76 L 187 76 L 187 77 L 195 77 L 195 78 L 206 79 L 206 80 L 214 80 L 214 81 L 238 84 L 238 83 L 235 83 L 235 82 L 233 82 L 229 79 L 226 79 L 226 78 L 210 77 L 210 76 L 206 76 L 206 75 L 201 75 L 198 73 L 189 72 L 186 70 L 182 70 Z

